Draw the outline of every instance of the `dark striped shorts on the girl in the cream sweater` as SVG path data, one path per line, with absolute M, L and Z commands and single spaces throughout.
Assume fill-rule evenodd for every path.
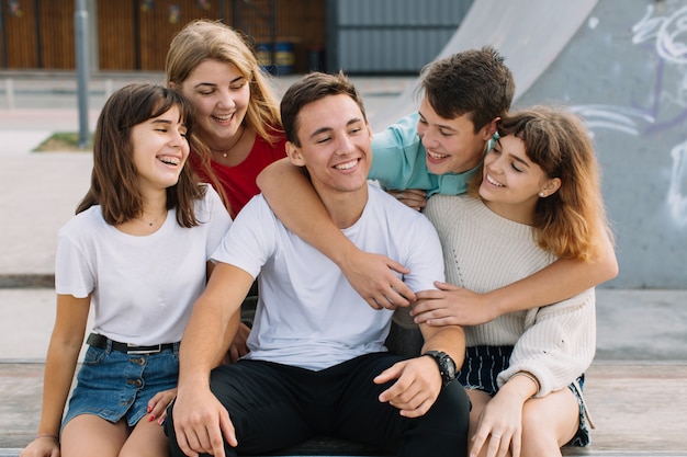
M 498 391 L 496 378 L 500 372 L 508 368 L 511 354 L 513 346 L 483 345 L 466 347 L 465 362 L 457 379 L 466 389 L 482 390 L 493 397 Z M 579 426 L 575 436 L 565 446 L 585 447 L 590 443 L 589 429 L 594 429 L 594 424 L 582 396 L 584 384 L 585 375 L 583 373 L 567 386 L 577 399 L 577 404 L 579 404 Z

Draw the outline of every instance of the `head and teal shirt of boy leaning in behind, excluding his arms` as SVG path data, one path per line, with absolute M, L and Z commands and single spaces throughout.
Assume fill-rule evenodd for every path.
M 387 190 L 423 190 L 427 197 L 462 194 L 510 107 L 513 75 L 494 48 L 484 47 L 426 66 L 420 90 L 417 113 L 374 135 L 369 178 Z

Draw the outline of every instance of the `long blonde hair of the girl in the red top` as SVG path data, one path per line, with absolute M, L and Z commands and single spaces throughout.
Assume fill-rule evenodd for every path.
M 258 64 L 248 38 L 228 25 L 218 21 L 195 20 L 174 35 L 165 60 L 167 85 L 181 85 L 195 67 L 206 60 L 232 64 L 249 81 L 250 100 L 245 126 L 271 145 L 279 141 L 283 136 L 279 100 L 272 92 L 269 76 Z M 211 178 L 213 187 L 228 208 L 228 198 L 212 171 L 210 148 L 198 135 L 191 136 L 191 151 L 199 156 L 203 172 Z

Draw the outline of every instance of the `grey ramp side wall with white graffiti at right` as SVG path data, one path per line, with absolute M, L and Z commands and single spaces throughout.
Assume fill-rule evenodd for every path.
M 552 101 L 596 144 L 620 263 L 607 286 L 687 288 L 687 1 L 600 0 L 516 107 Z

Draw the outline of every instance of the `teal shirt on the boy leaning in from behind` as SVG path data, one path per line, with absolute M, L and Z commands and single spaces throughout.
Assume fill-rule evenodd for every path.
M 426 151 L 417 134 L 419 114 L 410 114 L 372 137 L 372 167 L 368 178 L 384 188 L 421 188 L 433 194 L 458 195 L 468 191 L 468 183 L 482 163 L 463 173 L 433 174 L 427 169 Z M 493 146 L 489 140 L 486 150 Z

